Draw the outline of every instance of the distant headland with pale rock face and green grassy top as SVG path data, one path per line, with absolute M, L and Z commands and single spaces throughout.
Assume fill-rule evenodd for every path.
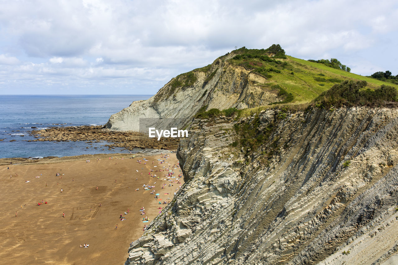
M 371 90 L 384 83 L 286 56 L 280 45 L 260 50 L 242 47 L 208 66 L 172 78 L 150 99 L 134 101 L 113 114 L 103 128 L 142 132 L 148 127 L 181 129 L 198 111 L 308 103 L 334 84 L 352 79 L 366 81 Z

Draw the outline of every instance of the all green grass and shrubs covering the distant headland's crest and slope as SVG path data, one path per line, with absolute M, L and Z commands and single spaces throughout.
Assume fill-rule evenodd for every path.
M 390 82 L 390 86 L 398 89 L 398 85 L 394 84 L 394 82 L 398 83 L 398 79 L 394 79 L 396 77 L 392 76 L 389 71 L 377 72 L 371 77 L 359 76 L 347 72 L 347 67 L 336 58 L 319 60 L 319 62 L 301 60 L 286 56 L 280 45 L 271 45 L 268 49 L 246 49 L 246 47 L 242 47 L 232 51 L 232 54 L 232 58 L 227 60 L 225 65 L 222 65 L 222 56 L 217 58 L 213 64 L 173 78 L 166 86 L 166 90 L 160 91 L 156 95 L 155 100 L 159 101 L 162 98 L 170 97 L 179 89 L 183 90 L 186 87 L 193 86 L 199 75 L 203 75 L 203 73 L 205 73 L 203 84 L 205 85 L 215 78 L 220 67 L 225 72 L 231 66 L 232 68 L 233 66 L 242 66 L 246 70 L 264 77 L 264 79 L 258 78 L 256 81 L 251 80 L 250 82 L 253 82 L 252 84 L 258 86 L 259 89 L 277 94 L 278 101 L 272 104 L 278 106 L 308 104 L 342 80 L 366 81 L 366 88 L 361 88 L 361 91 L 368 89 L 375 91 L 382 84 L 386 84 L 386 80 Z M 242 80 L 242 82 L 246 81 Z M 378 92 L 375 93 L 379 94 Z M 207 93 L 204 86 L 203 92 L 200 93 L 202 99 Z M 364 94 L 365 98 L 372 96 L 372 93 Z M 359 104 L 368 103 L 367 100 L 362 100 Z

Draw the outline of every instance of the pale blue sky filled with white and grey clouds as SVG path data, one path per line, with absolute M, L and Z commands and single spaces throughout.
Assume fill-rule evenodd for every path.
M 0 0 L 0 94 L 156 94 L 234 47 L 398 75 L 398 0 Z

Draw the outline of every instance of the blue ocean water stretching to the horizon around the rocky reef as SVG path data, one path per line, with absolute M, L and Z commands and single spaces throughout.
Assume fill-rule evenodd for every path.
M 0 95 L 0 158 L 130 153 L 108 150 L 107 142 L 27 142 L 28 131 L 49 127 L 105 125 L 109 117 L 135 100 L 152 95 Z M 58 125 L 57 125 L 58 124 Z M 31 128 L 36 127 L 36 128 Z M 11 140 L 15 140 L 10 142 Z M 86 148 L 89 147 L 89 148 Z M 97 148 L 94 148 L 97 147 Z

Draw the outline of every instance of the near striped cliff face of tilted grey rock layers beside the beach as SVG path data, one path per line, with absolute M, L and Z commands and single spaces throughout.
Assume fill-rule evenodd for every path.
M 126 264 L 378 264 L 394 258 L 398 110 L 278 114 L 259 115 L 259 131 L 275 126 L 249 153 L 230 145 L 233 127 L 256 117 L 196 120 L 178 150 L 185 184 L 131 244 Z M 271 146 L 277 151 L 270 155 Z

